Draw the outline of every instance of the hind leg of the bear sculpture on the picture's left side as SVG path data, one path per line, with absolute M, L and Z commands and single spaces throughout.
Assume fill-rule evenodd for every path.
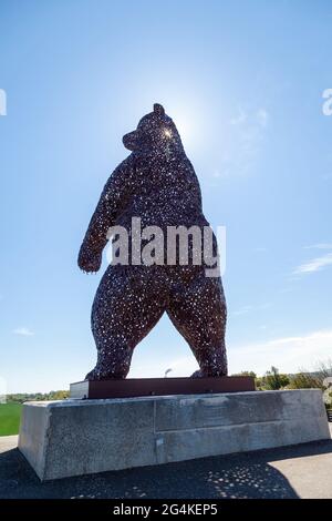
M 125 378 L 134 348 L 159 320 L 165 306 L 147 273 L 108 268 L 101 280 L 92 308 L 92 333 L 97 364 L 86 380 Z M 147 277 L 148 278 L 148 277 Z M 157 302 L 156 302 L 157 300 Z

